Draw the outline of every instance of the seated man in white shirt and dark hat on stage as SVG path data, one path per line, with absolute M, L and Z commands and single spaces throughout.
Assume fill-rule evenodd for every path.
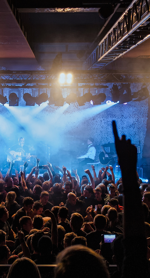
M 86 163 L 94 163 L 96 149 L 93 145 L 94 139 L 92 137 L 89 137 L 87 139 L 88 149 L 87 153 L 85 155 L 81 155 L 80 157 L 77 156 L 77 158 L 85 158 L 81 162 L 79 162 L 79 172 L 83 171 L 82 166 L 86 165 Z

